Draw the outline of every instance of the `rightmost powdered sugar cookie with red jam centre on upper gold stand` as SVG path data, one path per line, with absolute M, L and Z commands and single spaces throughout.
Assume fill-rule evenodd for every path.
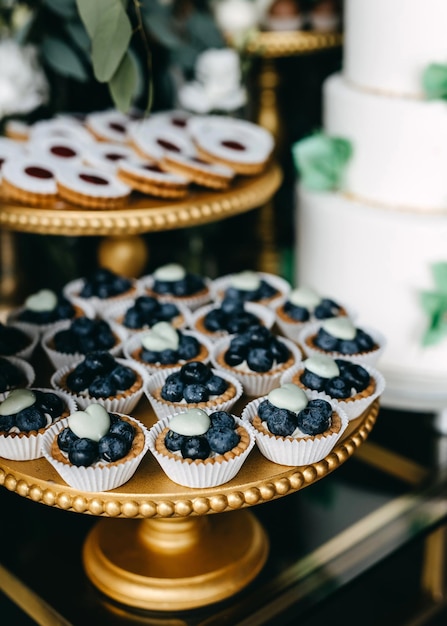
M 261 172 L 274 148 L 273 135 L 246 120 L 196 116 L 188 121 L 188 131 L 200 157 L 227 165 L 238 174 Z

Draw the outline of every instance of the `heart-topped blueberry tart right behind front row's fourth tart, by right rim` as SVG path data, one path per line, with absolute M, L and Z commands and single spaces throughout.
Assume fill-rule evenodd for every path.
M 382 374 L 366 363 L 314 354 L 281 377 L 306 391 L 316 391 L 340 405 L 349 419 L 359 417 L 385 389 Z

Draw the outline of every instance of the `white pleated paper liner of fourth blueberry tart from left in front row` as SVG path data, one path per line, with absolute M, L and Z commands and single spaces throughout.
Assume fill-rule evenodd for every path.
M 320 397 L 314 392 L 306 392 L 306 395 L 309 400 Z M 242 411 L 242 420 L 251 424 L 258 414 L 258 406 L 264 400 L 267 400 L 267 396 L 256 398 L 249 402 Z M 254 428 L 256 445 L 263 456 L 273 463 L 293 467 L 317 463 L 324 459 L 334 448 L 349 423 L 346 413 L 334 402 L 329 400 L 328 402 L 341 419 L 341 427 L 338 433 L 331 433 L 322 437 L 286 439 L 276 437 L 275 435 L 266 435 Z

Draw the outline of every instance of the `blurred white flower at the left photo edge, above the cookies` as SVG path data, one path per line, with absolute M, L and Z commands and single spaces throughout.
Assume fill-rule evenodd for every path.
M 48 98 L 48 83 L 34 46 L 0 41 L 0 117 L 28 113 Z

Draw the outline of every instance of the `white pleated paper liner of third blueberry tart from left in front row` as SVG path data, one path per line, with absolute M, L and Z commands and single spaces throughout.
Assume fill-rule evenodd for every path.
M 178 412 L 178 411 L 177 411 Z M 209 411 L 212 412 L 212 411 Z M 165 474 L 178 485 L 197 489 L 217 487 L 232 480 L 241 469 L 255 445 L 253 428 L 239 417 L 233 416 L 237 424 L 243 426 L 250 436 L 246 450 L 238 456 L 221 463 L 190 463 L 180 456 L 176 459 L 160 454 L 155 448 L 155 440 L 160 432 L 169 425 L 169 418 L 157 422 L 149 431 L 149 450 L 154 455 Z

